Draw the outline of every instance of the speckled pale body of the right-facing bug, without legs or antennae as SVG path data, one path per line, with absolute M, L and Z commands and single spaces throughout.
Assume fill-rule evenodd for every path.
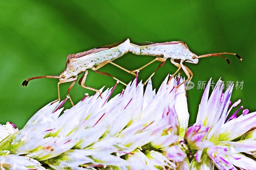
M 171 58 L 172 60 L 182 60 L 188 63 L 197 63 L 195 57 L 185 42 L 171 41 L 164 43 L 151 43 L 148 45 L 136 45 L 131 43 L 130 52 L 136 55 L 151 55 L 157 57 Z M 194 57 L 194 58 L 192 58 Z

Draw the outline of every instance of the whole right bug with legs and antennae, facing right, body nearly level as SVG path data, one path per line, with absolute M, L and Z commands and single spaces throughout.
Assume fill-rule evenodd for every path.
M 205 54 L 205 55 L 196 55 L 193 52 L 191 52 L 188 49 L 188 46 L 185 42 L 183 41 L 171 41 L 171 42 L 164 42 L 164 43 L 153 43 L 153 42 L 147 42 L 145 44 L 132 44 L 129 49 L 130 52 L 136 55 L 151 55 L 151 56 L 157 56 L 154 60 L 151 62 L 145 64 L 144 66 L 140 67 L 137 70 L 131 71 L 132 73 L 142 70 L 149 64 L 155 62 L 155 61 L 160 61 L 163 62 L 161 63 L 156 70 L 151 74 L 151 76 L 143 83 L 145 85 L 148 80 L 155 74 L 155 72 L 162 67 L 165 64 L 165 61 L 167 58 L 171 59 L 171 63 L 173 63 L 175 66 L 178 67 L 177 71 L 169 78 L 168 84 L 171 81 L 171 79 L 178 73 L 180 69 L 182 69 L 185 74 L 187 75 L 187 79 L 180 83 L 182 85 L 186 81 L 188 81 L 187 85 L 189 84 L 191 78 L 193 77 L 192 71 L 183 64 L 183 62 L 188 62 L 188 63 L 194 63 L 197 64 L 199 58 L 204 58 L 204 57 L 210 57 L 210 56 L 220 56 L 222 58 L 225 58 L 228 62 L 230 63 L 228 58 L 223 56 L 222 54 L 230 54 L 230 55 L 236 55 L 237 58 L 242 60 L 242 58 L 235 54 L 235 53 L 227 53 L 227 52 L 222 52 L 222 53 L 213 53 L 213 54 Z M 176 88 L 178 88 L 180 85 L 177 85 Z M 187 89 L 187 87 L 186 87 Z

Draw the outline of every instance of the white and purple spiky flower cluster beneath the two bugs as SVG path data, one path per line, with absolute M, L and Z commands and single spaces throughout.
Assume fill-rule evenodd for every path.
M 206 85 L 196 123 L 188 127 L 182 78 L 168 76 L 159 90 L 143 92 L 137 79 L 112 97 L 114 88 L 48 104 L 24 126 L 0 125 L 1 169 L 256 169 L 256 112 L 240 107 L 228 120 L 233 85 Z M 227 120 L 227 121 L 226 121 Z

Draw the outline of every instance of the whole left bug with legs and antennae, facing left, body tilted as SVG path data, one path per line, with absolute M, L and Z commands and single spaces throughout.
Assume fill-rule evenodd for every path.
M 72 106 L 74 106 L 74 103 L 71 100 L 69 92 L 72 89 L 72 87 L 75 85 L 78 75 L 81 73 L 84 73 L 84 74 L 78 81 L 79 85 L 81 85 L 82 87 L 84 87 L 86 89 L 89 89 L 89 90 L 92 90 L 95 92 L 99 92 L 101 95 L 101 92 L 99 90 L 96 90 L 92 87 L 88 87 L 88 86 L 84 85 L 86 76 L 88 74 L 88 69 L 92 69 L 99 74 L 110 76 L 110 77 L 114 78 L 115 80 L 119 81 L 120 83 L 126 85 L 125 83 L 123 83 L 122 81 L 113 77 L 112 75 L 105 73 L 105 72 L 97 71 L 97 70 L 99 68 L 101 68 L 102 66 L 104 66 L 105 64 L 111 63 L 128 73 L 132 73 L 131 71 L 126 70 L 123 67 L 121 67 L 115 63 L 112 63 L 113 60 L 115 60 L 115 59 L 123 56 L 125 53 L 129 52 L 130 46 L 131 46 L 130 40 L 126 39 L 124 41 L 120 41 L 120 42 L 117 42 L 117 43 L 114 43 L 111 45 L 101 46 L 99 48 L 93 48 L 89 51 L 84 51 L 84 52 L 76 53 L 76 54 L 69 54 L 69 55 L 67 55 L 65 70 L 62 71 L 60 73 L 60 75 L 38 76 L 38 77 L 28 78 L 25 81 L 23 81 L 22 86 L 27 86 L 28 82 L 30 80 L 37 79 L 37 78 L 58 78 L 59 79 L 59 82 L 57 85 L 58 100 L 56 100 L 56 101 L 60 101 L 60 84 L 73 81 L 73 83 L 68 88 L 68 97 L 70 99 Z M 132 73 L 132 74 L 134 76 L 136 76 L 134 73 Z

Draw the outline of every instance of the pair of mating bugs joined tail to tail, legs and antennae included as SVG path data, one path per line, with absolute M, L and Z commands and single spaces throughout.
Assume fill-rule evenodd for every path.
M 151 55 L 151 56 L 156 56 L 154 60 L 151 62 L 145 64 L 144 66 L 140 67 L 137 70 L 127 70 L 116 63 L 113 63 L 113 60 L 116 60 L 117 58 L 123 56 L 127 52 L 132 52 L 133 54 L 136 55 Z M 162 67 L 165 64 L 165 61 L 167 58 L 171 59 L 171 63 L 173 63 L 175 66 L 178 67 L 177 71 L 170 77 L 170 80 L 179 72 L 180 69 L 182 69 L 185 74 L 187 75 L 187 79 L 182 82 L 181 84 L 185 83 L 186 81 L 191 80 L 193 77 L 193 73 L 191 70 L 188 69 L 187 66 L 183 64 L 183 62 L 188 62 L 188 63 L 198 63 L 199 58 L 203 57 L 209 57 L 209 56 L 220 56 L 223 57 L 227 60 L 229 64 L 229 60 L 227 57 L 222 56 L 222 54 L 231 54 L 231 55 L 236 55 L 240 60 L 242 58 L 235 54 L 235 53 L 214 53 L 214 54 L 205 54 L 205 55 L 196 55 L 192 53 L 189 49 L 188 46 L 185 42 L 183 41 L 171 41 L 171 42 L 164 42 L 164 43 L 152 43 L 149 42 L 147 44 L 135 44 L 135 43 L 130 43 L 129 39 L 126 39 L 124 41 L 120 41 L 111 45 L 106 45 L 106 46 L 101 46 L 99 48 L 93 48 L 89 51 L 84 51 L 81 53 L 76 53 L 76 54 L 69 54 L 67 55 L 67 61 L 66 61 L 66 67 L 65 70 L 62 71 L 62 73 L 58 76 L 38 76 L 38 77 L 32 77 L 26 79 L 23 83 L 22 86 L 27 86 L 28 81 L 37 79 L 37 78 L 58 78 L 58 101 L 60 101 L 60 87 L 59 85 L 61 83 L 67 83 L 67 82 L 72 82 L 72 84 L 68 88 L 68 96 L 71 101 L 71 104 L 74 106 L 73 101 L 70 98 L 69 92 L 72 89 L 72 87 L 75 85 L 78 75 L 81 73 L 84 73 L 83 76 L 79 79 L 78 83 L 82 87 L 95 91 L 95 92 L 100 92 L 99 90 L 96 90 L 92 87 L 88 87 L 84 85 L 86 76 L 88 74 L 88 69 L 92 69 L 95 72 L 99 74 L 103 74 L 106 76 L 110 76 L 114 78 L 115 80 L 119 81 L 120 83 L 126 85 L 124 82 L 118 80 L 117 78 L 113 77 L 109 73 L 97 71 L 99 68 L 102 66 L 106 65 L 107 63 L 111 63 L 115 65 L 116 67 L 136 76 L 135 72 L 140 71 L 149 64 L 155 62 L 155 61 L 160 61 L 162 62 L 156 70 L 151 74 L 151 76 L 143 83 L 145 85 L 148 80 L 155 74 L 155 72 Z M 168 83 L 169 83 L 168 82 Z M 180 85 L 181 85 L 180 84 Z M 178 85 L 177 88 L 180 86 Z M 101 94 L 101 93 L 100 93 Z

